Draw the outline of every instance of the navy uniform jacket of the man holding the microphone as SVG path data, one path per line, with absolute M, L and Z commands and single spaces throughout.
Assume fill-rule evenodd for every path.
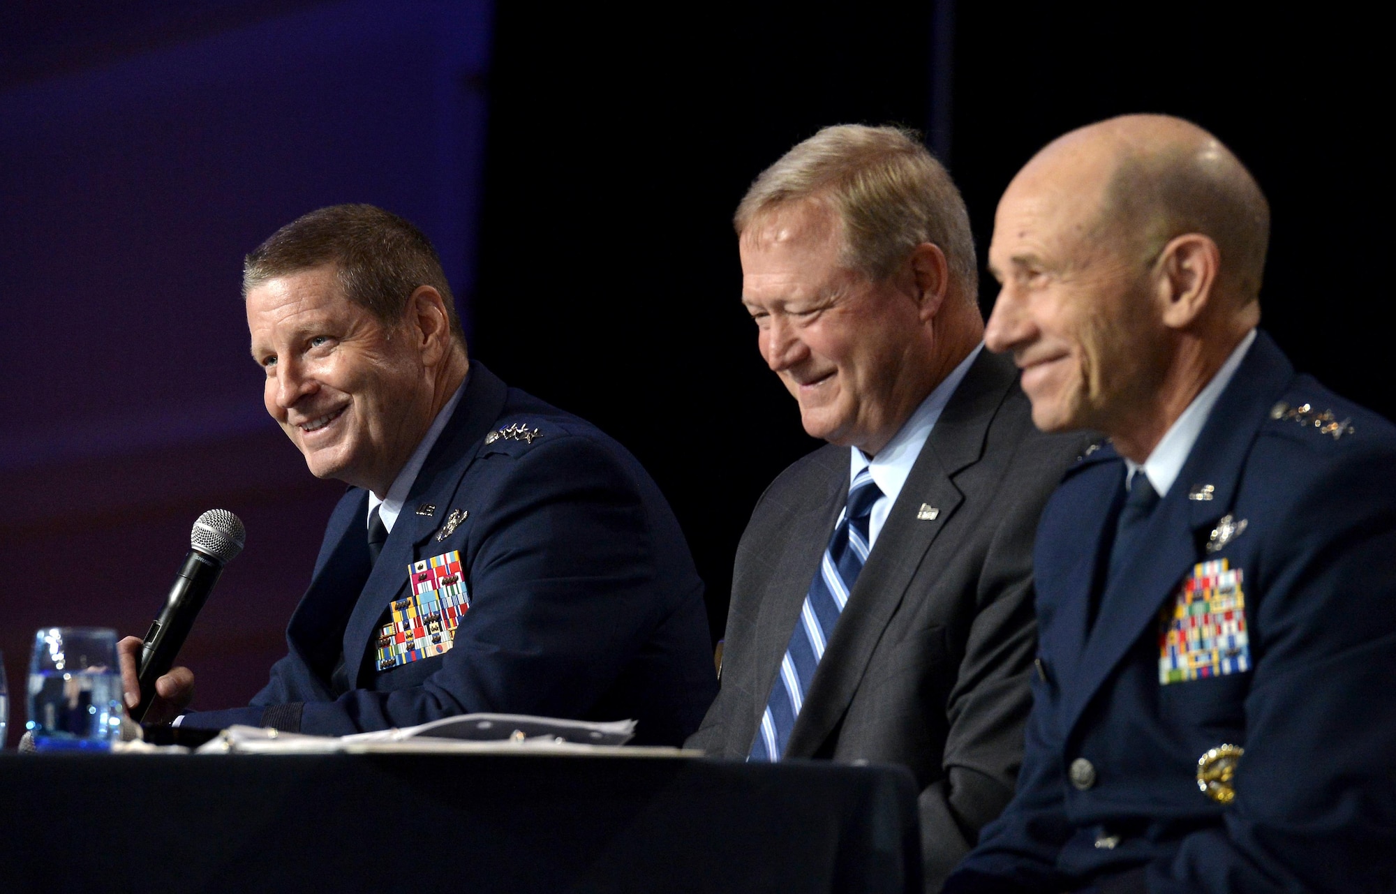
M 537 436 L 486 443 L 512 423 Z M 443 538 L 452 510 L 468 517 Z M 371 574 L 366 513 L 367 492 L 349 489 L 286 629 L 289 654 L 251 707 L 186 725 L 343 735 L 497 711 L 635 718 L 637 742 L 666 745 L 697 728 L 716 690 L 702 581 L 653 481 L 592 425 L 472 362 Z M 450 550 L 472 599 L 454 647 L 378 672 L 373 640 L 408 594 L 409 564 Z M 341 654 L 350 691 L 335 697 Z

